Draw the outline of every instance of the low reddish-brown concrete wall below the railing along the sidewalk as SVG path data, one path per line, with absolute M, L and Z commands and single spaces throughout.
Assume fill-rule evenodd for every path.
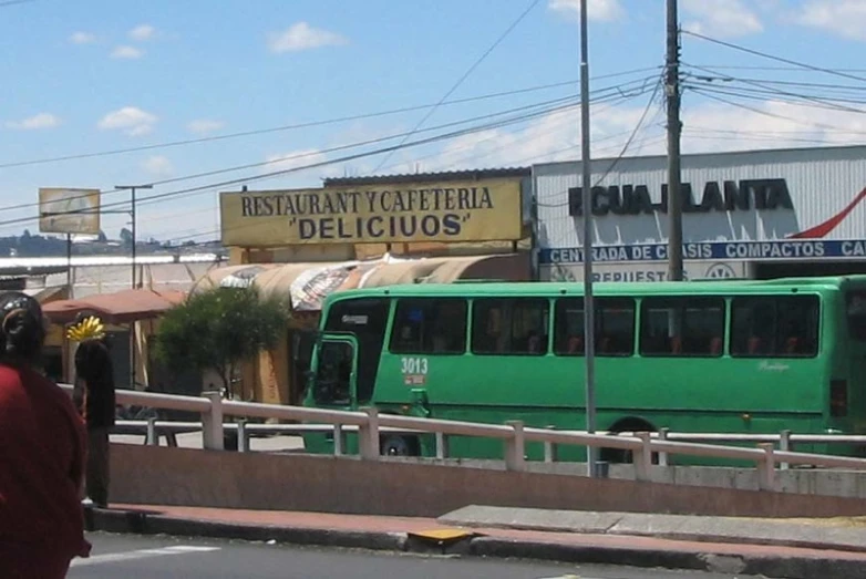
M 112 502 L 436 517 L 466 505 L 708 516 L 866 514 L 855 498 L 357 458 L 112 445 Z

